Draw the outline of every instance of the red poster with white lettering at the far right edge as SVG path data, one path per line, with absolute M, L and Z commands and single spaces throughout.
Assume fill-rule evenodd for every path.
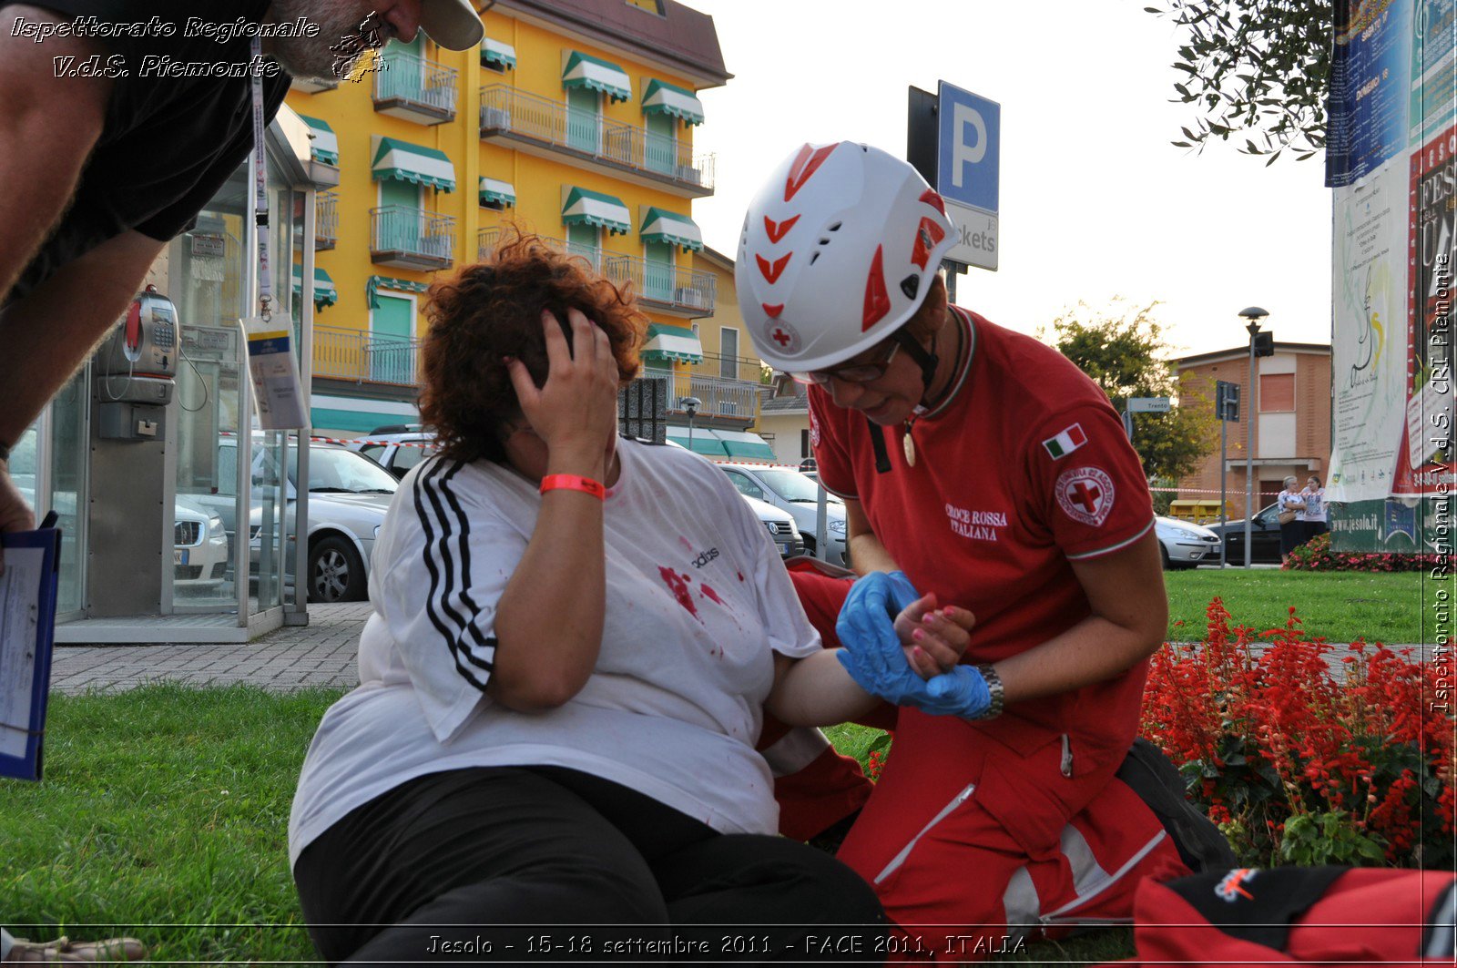
M 1453 485 L 1451 296 L 1457 259 L 1457 127 L 1410 157 L 1406 405 L 1393 494 Z

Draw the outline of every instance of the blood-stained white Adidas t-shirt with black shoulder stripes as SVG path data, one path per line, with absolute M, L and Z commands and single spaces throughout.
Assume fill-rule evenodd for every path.
M 772 778 L 753 749 L 771 653 L 813 655 L 819 634 L 723 471 L 679 448 L 619 440 L 618 453 L 597 665 L 568 703 L 533 714 L 484 688 L 495 605 L 541 510 L 536 485 L 490 461 L 431 458 L 405 475 L 374 542 L 360 685 L 309 746 L 290 863 L 380 793 L 481 765 L 570 767 L 721 832 L 777 830 Z

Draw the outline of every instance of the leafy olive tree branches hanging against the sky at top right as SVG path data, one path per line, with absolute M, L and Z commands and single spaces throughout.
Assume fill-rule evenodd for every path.
M 1163 0 L 1144 7 L 1179 25 L 1174 101 L 1193 118 L 1179 147 L 1243 138 L 1244 155 L 1297 160 L 1326 144 L 1333 0 Z

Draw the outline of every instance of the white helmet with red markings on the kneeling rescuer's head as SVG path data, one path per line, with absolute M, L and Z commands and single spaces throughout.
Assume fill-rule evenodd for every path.
M 956 241 L 941 197 L 868 144 L 806 144 L 749 203 L 734 287 L 759 357 L 819 370 L 915 315 Z

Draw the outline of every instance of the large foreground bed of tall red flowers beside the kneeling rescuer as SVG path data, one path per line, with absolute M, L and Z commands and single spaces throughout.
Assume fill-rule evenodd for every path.
M 1386 646 L 1349 653 L 1285 628 L 1230 628 L 1217 598 L 1203 643 L 1166 644 L 1144 735 L 1180 764 L 1190 800 L 1244 863 L 1450 866 L 1454 720 L 1438 675 Z

